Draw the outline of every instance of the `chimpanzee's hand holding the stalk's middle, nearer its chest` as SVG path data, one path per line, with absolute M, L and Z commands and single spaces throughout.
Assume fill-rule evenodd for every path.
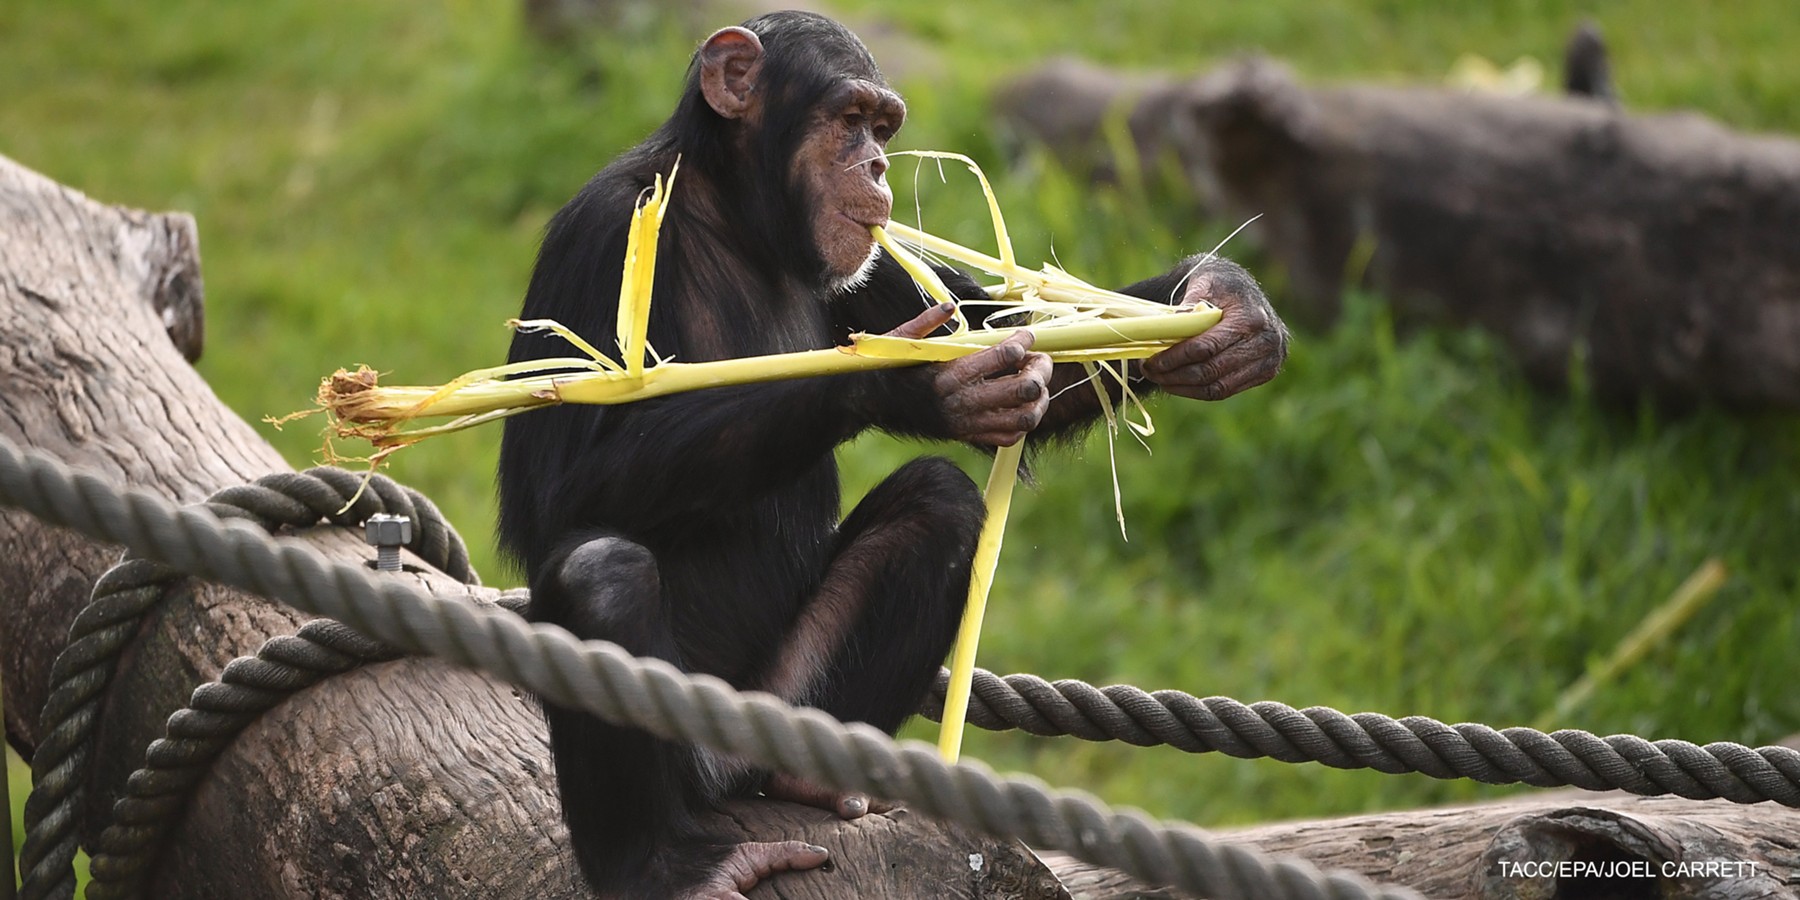
M 950 320 L 956 308 L 943 302 L 889 331 L 920 338 Z M 1037 428 L 1049 409 L 1049 356 L 1031 353 L 1037 340 L 1021 331 L 985 351 L 931 365 L 931 389 L 938 396 L 949 434 L 945 437 L 981 446 L 1012 446 Z

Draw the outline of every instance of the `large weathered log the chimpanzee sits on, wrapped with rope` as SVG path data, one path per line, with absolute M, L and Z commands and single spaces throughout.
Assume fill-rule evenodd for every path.
M 94 203 L 0 157 L 0 432 L 178 500 L 286 470 L 189 365 L 200 320 L 191 218 Z M 371 556 L 342 529 L 301 536 Z M 27 760 L 50 662 L 117 554 L 0 509 L 5 725 Z M 409 563 L 401 578 L 423 589 L 495 594 Z M 173 590 L 108 691 L 86 837 L 189 691 L 304 619 L 212 585 Z M 832 871 L 752 896 L 1064 896 L 1022 846 L 904 810 L 857 823 L 778 803 L 727 812 L 727 832 L 833 851 Z M 580 896 L 565 844 L 536 704 L 477 673 L 400 661 L 328 679 L 252 724 L 196 790 L 149 895 Z

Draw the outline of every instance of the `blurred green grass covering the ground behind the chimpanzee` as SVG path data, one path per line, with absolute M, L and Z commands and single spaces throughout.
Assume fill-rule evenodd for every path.
M 902 85 L 898 144 L 976 155 L 1021 254 L 1055 248 L 1102 283 L 1159 272 L 1237 223 L 1201 220 L 1166 187 L 1094 191 L 1040 160 L 1008 167 L 983 95 L 1055 52 L 1199 68 L 1264 49 L 1312 79 L 1415 81 L 1462 52 L 1553 68 L 1588 13 L 1633 108 L 1800 130 L 1789 0 L 1157 2 L 1103 16 L 1093 2 L 1030 14 L 995 0 L 844 5 L 880 9 L 941 54 L 941 76 Z M 441 382 L 504 355 L 500 322 L 542 223 L 666 115 L 700 38 L 632 31 L 549 52 L 524 40 L 515 7 L 7 4 L 0 153 L 106 202 L 196 214 L 200 367 L 245 418 L 301 409 L 320 374 L 356 362 Z M 902 209 L 907 166 L 895 171 Z M 986 239 L 970 180 L 922 191 L 927 227 Z M 1800 639 L 1800 423 L 1543 396 L 1481 335 L 1397 338 L 1381 299 L 1348 310 L 1334 331 L 1300 335 L 1267 389 L 1161 403 L 1154 455 L 1120 445 L 1129 544 L 1103 443 L 1046 461 L 1042 490 L 1015 506 L 983 664 L 1523 724 L 1717 556 L 1732 574 L 1712 603 L 1568 724 L 1750 743 L 1800 731 L 1786 689 Z M 319 446 L 310 425 L 266 432 L 301 466 Z M 445 508 L 490 581 L 511 583 L 491 549 L 495 441 L 434 441 L 392 473 Z M 878 437 L 846 448 L 851 497 L 916 452 Z M 959 459 L 979 477 L 979 457 Z M 1481 794 L 1004 734 L 972 734 L 968 752 L 1204 824 Z

